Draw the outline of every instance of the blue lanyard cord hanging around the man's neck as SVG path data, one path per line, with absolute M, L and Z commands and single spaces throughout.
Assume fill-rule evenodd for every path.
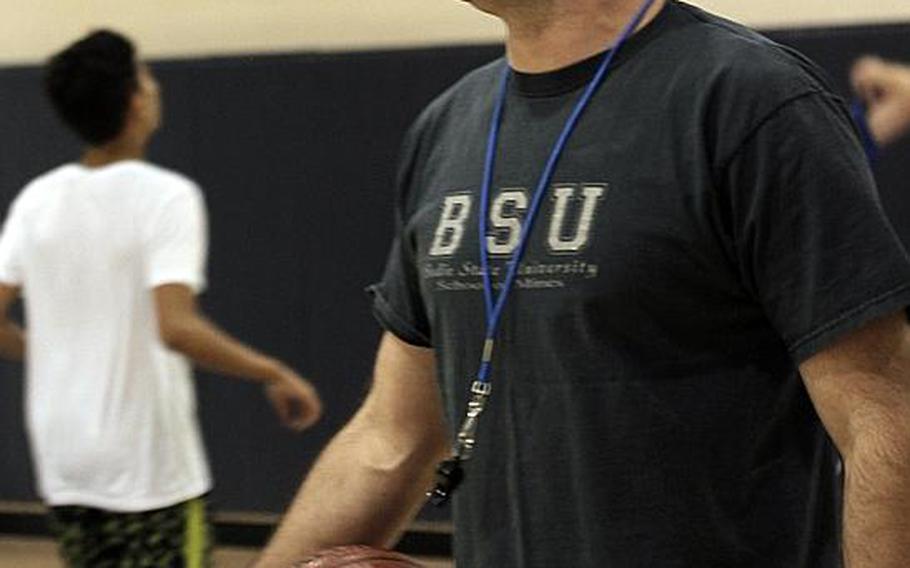
M 480 220 L 478 222 L 478 230 L 480 237 L 480 266 L 483 274 L 486 334 L 483 354 L 481 356 L 480 369 L 477 372 L 477 381 L 474 387 L 472 387 L 472 392 L 481 391 L 485 392 L 486 394 L 489 394 L 490 392 L 490 371 L 492 368 L 493 346 L 497 331 L 499 329 L 502 311 L 506 305 L 506 301 L 509 299 L 509 295 L 512 292 L 512 288 L 515 284 L 515 279 L 518 276 L 518 268 L 521 265 L 521 260 L 524 257 L 525 249 L 527 248 L 528 237 L 530 236 L 531 230 L 534 227 L 534 221 L 537 218 L 538 212 L 540 211 L 543 197 L 546 195 L 550 181 L 553 179 L 553 172 L 556 169 L 556 164 L 559 162 L 559 158 L 562 156 L 562 153 L 566 147 L 566 143 L 568 142 L 569 137 L 572 135 L 572 132 L 575 130 L 575 126 L 578 124 L 578 120 L 581 117 L 581 114 L 584 112 L 585 108 L 587 108 L 588 103 L 591 102 L 591 99 L 594 96 L 594 93 L 597 92 L 598 87 L 600 87 L 601 83 L 603 83 L 604 79 L 606 78 L 607 73 L 610 70 L 610 66 L 613 63 L 613 59 L 616 57 L 616 54 L 626 43 L 626 41 L 628 41 L 632 34 L 635 33 L 635 30 L 638 29 L 638 26 L 641 25 L 642 20 L 654 2 L 655 0 L 645 0 L 641 7 L 638 9 L 638 12 L 635 14 L 635 16 L 629 21 L 628 24 L 626 24 L 626 27 L 623 29 L 622 33 L 619 36 L 619 39 L 616 41 L 613 48 L 604 55 L 600 66 L 597 68 L 597 72 L 588 83 L 587 88 L 578 99 L 578 102 L 575 104 L 575 108 L 572 110 L 572 113 L 566 120 L 565 126 L 563 126 L 562 132 L 560 133 L 559 138 L 556 140 L 556 144 L 554 144 L 553 149 L 550 152 L 550 157 L 547 159 L 546 166 L 544 167 L 543 172 L 540 175 L 540 179 L 537 182 L 537 187 L 534 190 L 534 197 L 531 200 L 531 206 L 528 208 L 528 214 L 525 218 L 525 222 L 521 227 L 518 244 L 515 247 L 512 258 L 507 263 L 508 269 L 506 278 L 502 284 L 502 288 L 499 294 L 494 297 L 493 279 L 490 270 L 490 258 L 489 252 L 487 250 L 487 223 L 490 206 L 490 190 L 491 186 L 493 185 L 493 170 L 496 163 L 496 150 L 499 147 L 499 131 L 502 126 L 503 109 L 505 108 L 509 78 L 511 76 L 511 70 L 508 65 L 503 71 L 502 79 L 500 80 L 499 96 L 496 100 L 496 106 L 493 109 L 493 119 L 490 124 L 490 132 L 487 138 L 487 150 L 483 171 L 483 184 L 481 185 L 480 190 Z

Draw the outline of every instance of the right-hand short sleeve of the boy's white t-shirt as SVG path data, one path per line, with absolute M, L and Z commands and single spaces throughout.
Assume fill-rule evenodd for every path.
M 208 222 L 198 187 L 188 184 L 150 217 L 146 233 L 146 285 L 185 284 L 205 289 Z

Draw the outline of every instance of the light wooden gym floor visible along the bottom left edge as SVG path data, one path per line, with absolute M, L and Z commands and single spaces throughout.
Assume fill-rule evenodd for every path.
M 216 568 L 247 568 L 256 550 L 221 547 L 215 550 Z M 420 559 L 427 568 L 453 568 L 447 560 Z M 5 537 L 0 535 L 0 568 L 63 568 L 54 542 L 48 539 Z

